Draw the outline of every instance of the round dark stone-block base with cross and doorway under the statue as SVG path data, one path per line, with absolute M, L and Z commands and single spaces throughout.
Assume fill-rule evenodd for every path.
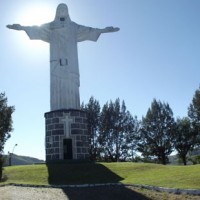
M 87 118 L 84 111 L 63 109 L 47 112 L 44 116 L 47 162 L 89 159 Z

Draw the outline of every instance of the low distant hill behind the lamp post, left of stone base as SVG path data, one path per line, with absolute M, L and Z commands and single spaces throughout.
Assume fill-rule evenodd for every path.
M 16 154 L 12 155 L 11 165 L 31 165 L 37 163 L 44 163 L 44 160 L 39 160 L 37 158 L 32 158 L 28 156 L 19 156 Z M 9 165 L 9 156 L 5 155 L 5 166 Z

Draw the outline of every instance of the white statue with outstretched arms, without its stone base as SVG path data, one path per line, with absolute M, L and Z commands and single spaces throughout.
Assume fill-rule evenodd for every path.
M 59 109 L 80 109 L 79 67 L 77 43 L 97 41 L 101 33 L 115 32 L 119 28 L 91 28 L 71 21 L 66 4 L 59 4 L 54 21 L 41 26 L 7 25 L 23 30 L 31 40 L 50 44 L 50 106 Z

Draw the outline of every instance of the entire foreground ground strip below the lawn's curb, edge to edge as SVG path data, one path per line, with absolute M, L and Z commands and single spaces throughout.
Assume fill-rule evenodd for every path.
M 123 186 L 36 188 L 0 187 L 0 200 L 200 200 L 200 196 L 174 195 Z

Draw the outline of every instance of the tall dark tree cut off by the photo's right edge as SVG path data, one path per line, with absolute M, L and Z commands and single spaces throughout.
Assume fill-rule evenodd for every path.
M 198 133 L 198 144 L 200 144 L 200 88 L 195 91 L 192 103 L 188 107 L 188 116 L 192 120 L 192 125 Z

